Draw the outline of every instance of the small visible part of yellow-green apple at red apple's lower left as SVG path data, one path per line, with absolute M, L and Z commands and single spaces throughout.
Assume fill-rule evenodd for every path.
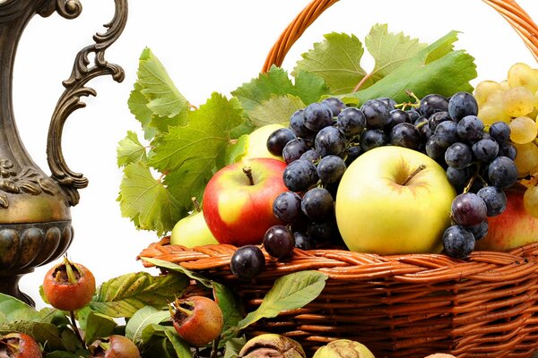
M 188 217 L 183 217 L 172 229 L 170 243 L 187 248 L 217 244 L 217 239 L 211 234 L 205 223 L 204 213 L 195 211 Z

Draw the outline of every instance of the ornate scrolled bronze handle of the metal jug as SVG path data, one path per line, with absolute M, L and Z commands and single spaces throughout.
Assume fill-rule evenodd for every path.
M 56 181 L 65 192 L 69 205 L 78 203 L 80 195 L 78 190 L 88 186 L 88 179 L 81 173 L 75 173 L 65 163 L 62 152 L 62 132 L 67 117 L 75 110 L 86 107 L 82 96 L 96 96 L 97 92 L 86 87 L 88 81 L 101 75 L 109 74 L 112 79 L 121 82 L 125 78 L 124 70 L 117 64 L 110 64 L 105 60 L 105 51 L 121 35 L 127 21 L 127 0 L 115 0 L 116 10 L 112 21 L 105 24 L 105 33 L 93 36 L 94 44 L 82 48 L 74 60 L 71 77 L 63 81 L 64 93 L 58 99 L 48 128 L 47 160 L 51 171 L 51 178 Z M 66 19 L 74 19 L 82 13 L 80 0 L 56 0 L 56 12 Z M 94 54 L 91 64 L 89 55 Z

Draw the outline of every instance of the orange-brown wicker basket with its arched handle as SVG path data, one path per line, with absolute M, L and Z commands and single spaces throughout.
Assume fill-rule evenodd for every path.
M 513 0 L 484 2 L 508 20 L 538 60 L 538 27 L 528 14 Z M 282 64 L 292 44 L 334 3 L 309 4 L 284 30 L 263 72 Z M 305 269 L 325 273 L 325 290 L 314 302 L 261 320 L 249 332 L 293 337 L 310 354 L 340 337 L 360 341 L 377 357 L 448 353 L 516 358 L 538 352 L 538 243 L 509 252 L 475 251 L 466 260 L 441 254 L 296 249 L 285 262 L 265 254 L 264 273 L 247 283 L 230 273 L 235 250 L 230 245 L 186 249 L 164 238 L 140 257 L 178 263 L 233 287 L 247 311 L 259 306 L 277 277 Z

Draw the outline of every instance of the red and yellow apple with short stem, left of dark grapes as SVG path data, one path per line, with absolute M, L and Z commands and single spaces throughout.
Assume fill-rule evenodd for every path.
M 280 160 L 252 158 L 213 175 L 205 187 L 204 219 L 219 243 L 262 243 L 269 227 L 282 224 L 274 217 L 273 200 L 288 191 L 285 168 Z

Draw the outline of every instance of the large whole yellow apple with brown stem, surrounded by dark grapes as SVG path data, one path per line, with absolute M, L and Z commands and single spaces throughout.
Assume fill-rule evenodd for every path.
M 350 251 L 438 252 L 455 197 L 445 170 L 430 157 L 379 147 L 355 159 L 343 174 L 336 221 Z

